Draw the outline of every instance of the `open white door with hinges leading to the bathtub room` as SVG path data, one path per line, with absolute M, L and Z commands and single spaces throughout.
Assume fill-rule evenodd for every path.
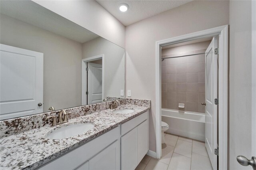
M 217 148 L 217 105 L 214 99 L 218 97 L 218 55 L 214 54 L 214 49 L 217 48 L 217 37 L 212 39 L 212 42 L 206 49 L 205 53 L 205 90 L 206 90 L 206 112 L 205 112 L 205 145 L 212 163 L 212 168 L 217 169 L 217 155 L 214 154 L 214 149 Z

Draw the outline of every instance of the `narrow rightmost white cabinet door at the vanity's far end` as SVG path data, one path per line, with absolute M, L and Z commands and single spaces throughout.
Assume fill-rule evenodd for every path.
M 148 152 L 148 120 L 138 125 L 138 161 L 139 164 L 142 158 Z

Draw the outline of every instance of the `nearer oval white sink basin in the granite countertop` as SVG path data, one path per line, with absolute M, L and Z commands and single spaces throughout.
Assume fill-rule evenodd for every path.
M 62 127 L 52 131 L 46 136 L 46 138 L 48 139 L 68 138 L 68 137 L 76 136 L 78 134 L 83 134 L 84 132 L 87 132 L 93 127 L 94 125 L 91 123 L 80 123 L 80 124 L 68 125 L 66 127 Z

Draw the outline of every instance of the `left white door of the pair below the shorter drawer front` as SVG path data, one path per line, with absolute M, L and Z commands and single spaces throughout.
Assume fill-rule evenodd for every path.
M 134 170 L 137 166 L 137 127 L 121 137 L 121 169 Z

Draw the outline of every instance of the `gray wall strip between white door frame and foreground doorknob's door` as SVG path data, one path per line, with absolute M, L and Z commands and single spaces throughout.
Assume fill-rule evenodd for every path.
M 255 8 L 255 6 L 254 6 Z M 254 9 L 255 10 L 255 9 Z M 229 169 L 248 169 L 236 156 L 252 156 L 252 1 L 230 1 Z M 254 21 L 255 22 L 255 21 Z M 254 30 L 255 31 L 255 30 Z M 254 38 L 255 39 L 255 38 Z M 255 65 L 254 65 L 255 67 Z M 254 73 L 255 74 L 255 73 Z M 255 110 L 254 110 L 255 112 Z M 254 129 L 255 133 L 255 129 Z M 255 141 L 255 140 L 254 140 Z M 254 151 L 255 154 L 256 151 Z

